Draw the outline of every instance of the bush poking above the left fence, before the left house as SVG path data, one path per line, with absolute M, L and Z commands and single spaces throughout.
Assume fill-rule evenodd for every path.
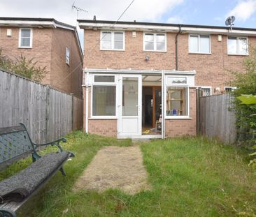
M 27 59 L 27 57 L 20 55 L 18 58 L 11 59 L 10 57 L 3 55 L 1 49 L 0 67 L 36 82 L 41 82 L 47 73 L 46 66 L 41 68 L 38 66 L 38 61 L 34 61 L 33 58 Z

